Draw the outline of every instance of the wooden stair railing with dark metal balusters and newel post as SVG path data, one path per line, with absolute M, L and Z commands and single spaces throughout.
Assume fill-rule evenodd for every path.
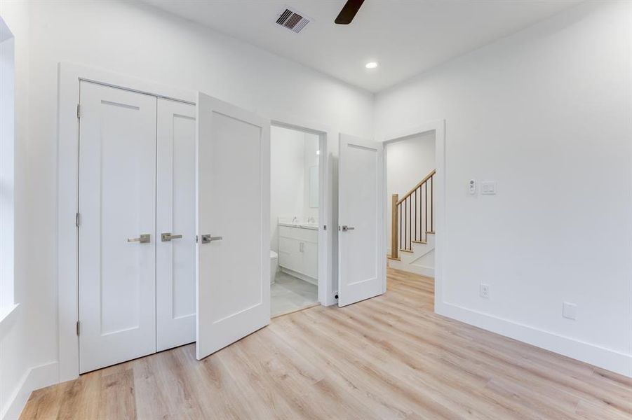
M 434 176 L 436 170 L 419 181 L 402 198 L 391 197 L 391 258 L 399 252 L 412 252 L 412 244 L 425 244 L 434 233 Z

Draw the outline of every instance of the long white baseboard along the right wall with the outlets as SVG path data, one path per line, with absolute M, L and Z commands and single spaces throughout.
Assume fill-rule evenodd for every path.
M 632 355 L 630 354 L 619 353 L 618 351 L 605 349 L 594 344 L 581 342 L 577 339 L 564 337 L 553 332 L 540 330 L 529 325 L 516 323 L 446 302 L 436 302 L 435 311 L 439 315 L 483 328 L 483 330 L 495 332 L 505 337 L 532 344 L 541 349 L 581 360 L 582 362 L 602 367 L 605 370 L 623 374 L 626 377 L 632 377 Z

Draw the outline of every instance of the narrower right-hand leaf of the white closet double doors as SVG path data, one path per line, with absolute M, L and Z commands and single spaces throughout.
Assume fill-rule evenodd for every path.
M 195 106 L 158 99 L 156 351 L 195 341 Z

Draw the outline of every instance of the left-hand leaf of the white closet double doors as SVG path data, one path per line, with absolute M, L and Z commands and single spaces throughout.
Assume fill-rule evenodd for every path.
M 156 351 L 156 97 L 81 82 L 79 370 Z

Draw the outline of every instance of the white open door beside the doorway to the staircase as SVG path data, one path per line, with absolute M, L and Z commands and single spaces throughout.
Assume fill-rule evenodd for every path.
M 383 145 L 340 134 L 338 306 L 386 291 Z

